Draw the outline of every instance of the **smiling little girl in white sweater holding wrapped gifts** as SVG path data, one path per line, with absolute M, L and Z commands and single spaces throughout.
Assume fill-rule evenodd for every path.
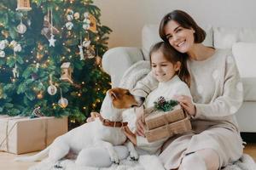
M 158 80 L 158 88 L 155 88 L 148 94 L 145 100 L 145 108 L 153 107 L 154 101 L 160 96 L 165 99 L 175 99 L 176 95 L 188 95 L 189 91 L 189 71 L 186 66 L 186 54 L 177 52 L 167 42 L 158 42 L 151 48 L 150 53 L 151 74 Z M 147 150 L 148 154 L 159 154 L 161 145 L 166 139 L 160 139 L 153 143 L 148 143 L 148 140 L 142 136 L 132 133 L 129 127 L 123 127 L 123 131 L 128 139 L 137 148 Z

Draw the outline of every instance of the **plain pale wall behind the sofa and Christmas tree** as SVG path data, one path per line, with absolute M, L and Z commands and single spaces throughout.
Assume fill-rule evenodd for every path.
M 145 24 L 159 25 L 173 9 L 188 12 L 199 25 L 256 27 L 255 0 L 95 0 L 101 21 L 113 32 L 109 48 L 140 47 Z

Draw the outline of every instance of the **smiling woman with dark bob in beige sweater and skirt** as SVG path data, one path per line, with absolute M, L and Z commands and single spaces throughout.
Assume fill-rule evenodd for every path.
M 169 139 L 160 160 L 166 169 L 216 170 L 242 155 L 242 140 L 235 113 L 242 103 L 242 84 L 230 50 L 204 46 L 206 32 L 189 14 L 174 10 L 161 20 L 160 37 L 189 55 L 189 96 L 177 96 L 192 117 L 194 132 Z M 146 97 L 158 82 L 148 74 L 137 82 L 134 94 Z M 142 116 L 137 115 L 137 134 L 144 135 Z

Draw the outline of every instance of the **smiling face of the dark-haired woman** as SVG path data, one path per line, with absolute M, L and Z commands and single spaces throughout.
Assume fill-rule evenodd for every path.
M 176 21 L 170 20 L 165 26 L 166 38 L 173 48 L 180 53 L 187 53 L 194 45 L 195 31 L 183 28 Z

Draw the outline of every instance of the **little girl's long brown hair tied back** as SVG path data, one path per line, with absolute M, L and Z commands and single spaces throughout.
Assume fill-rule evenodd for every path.
M 155 52 L 160 51 L 167 59 L 172 63 L 172 65 L 175 65 L 177 61 L 181 63 L 180 70 L 177 71 L 177 76 L 190 86 L 190 75 L 187 67 L 187 59 L 188 54 L 182 54 L 178 52 L 175 48 L 173 48 L 169 42 L 157 42 L 154 44 L 154 46 L 150 49 L 149 52 L 149 59 L 150 59 L 150 65 L 152 65 L 152 59 L 151 56 Z

